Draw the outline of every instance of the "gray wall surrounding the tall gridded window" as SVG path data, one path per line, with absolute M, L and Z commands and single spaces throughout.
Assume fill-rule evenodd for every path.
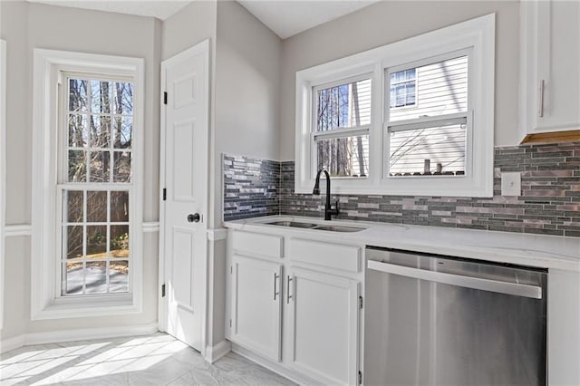
M 32 179 L 33 50 L 46 48 L 145 59 L 144 220 L 156 221 L 159 198 L 160 22 L 149 17 L 84 11 L 26 2 L 1 2 L 7 45 L 6 224 L 30 224 Z M 106 28 L 102 28 L 102 26 Z M 131 34 L 120 32 L 130 31 Z M 158 236 L 146 234 L 141 314 L 30 321 L 30 237 L 8 237 L 5 253 L 5 328 L 2 338 L 74 328 L 157 321 Z M 3 273 L 4 274 L 4 273 Z

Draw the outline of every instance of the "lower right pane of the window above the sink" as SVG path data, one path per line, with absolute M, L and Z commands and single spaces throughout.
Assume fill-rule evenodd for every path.
M 466 125 L 391 132 L 391 176 L 464 175 Z

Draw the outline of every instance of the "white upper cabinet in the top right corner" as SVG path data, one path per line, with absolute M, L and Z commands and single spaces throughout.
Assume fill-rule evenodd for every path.
M 580 130 L 580 2 L 523 1 L 520 134 Z

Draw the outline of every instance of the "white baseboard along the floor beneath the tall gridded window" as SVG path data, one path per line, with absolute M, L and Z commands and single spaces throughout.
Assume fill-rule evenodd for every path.
M 22 346 L 46 343 L 86 341 L 92 339 L 121 338 L 123 336 L 147 335 L 158 331 L 157 323 L 121 327 L 82 328 L 48 333 L 23 333 L 0 342 L 0 352 L 8 352 Z

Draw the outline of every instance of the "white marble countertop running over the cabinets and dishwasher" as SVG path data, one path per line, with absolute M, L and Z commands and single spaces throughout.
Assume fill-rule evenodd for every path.
M 365 227 L 360 232 L 330 232 L 267 225 L 299 221 L 334 226 Z M 382 246 L 415 252 L 580 272 L 580 238 L 512 232 L 424 227 L 366 221 L 324 221 L 315 217 L 269 216 L 227 221 L 225 227 L 284 236 L 307 236 L 357 246 Z

